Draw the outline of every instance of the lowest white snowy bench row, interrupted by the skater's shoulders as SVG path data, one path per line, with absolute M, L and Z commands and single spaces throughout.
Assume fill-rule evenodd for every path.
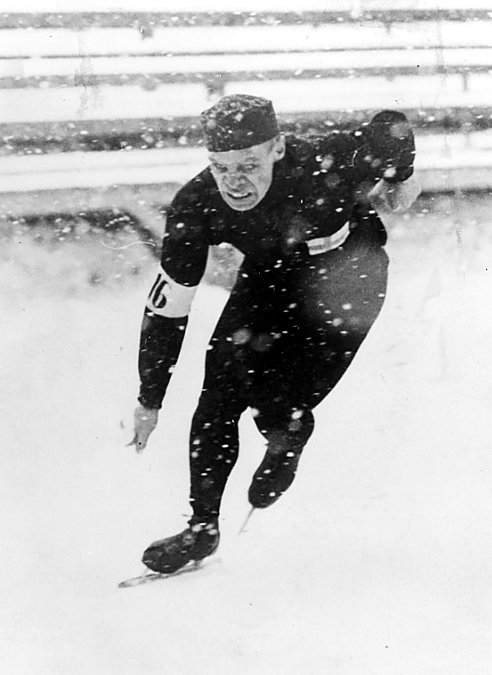
M 203 148 L 0 158 L 0 217 L 118 209 L 159 240 L 175 192 L 207 165 Z M 491 191 L 492 132 L 417 138 L 424 193 Z

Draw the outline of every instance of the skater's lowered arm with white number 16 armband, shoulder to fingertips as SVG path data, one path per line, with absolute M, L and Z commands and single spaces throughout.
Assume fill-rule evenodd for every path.
M 130 443 L 137 452 L 145 448 L 157 425 L 180 355 L 192 300 L 207 264 L 209 242 L 200 209 L 187 206 L 182 192 L 178 192 L 167 213 L 161 265 L 142 321 L 138 354 L 140 405 L 134 413 L 135 436 Z

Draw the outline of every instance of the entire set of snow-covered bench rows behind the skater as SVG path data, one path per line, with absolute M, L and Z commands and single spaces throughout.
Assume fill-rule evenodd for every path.
M 235 92 L 272 99 L 293 132 L 401 110 L 424 190 L 492 186 L 490 0 L 29 4 L 4 0 L 0 20 L 4 216 L 131 207 L 159 229 L 207 164 L 198 113 Z

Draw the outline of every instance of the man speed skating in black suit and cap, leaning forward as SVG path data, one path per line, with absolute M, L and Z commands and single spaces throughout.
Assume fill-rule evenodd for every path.
M 138 452 L 157 424 L 209 246 L 232 244 L 244 261 L 207 350 L 192 420 L 193 516 L 143 556 L 168 574 L 219 545 L 246 408 L 267 440 L 250 504 L 271 506 L 294 481 L 312 410 L 348 369 L 385 298 L 386 232 L 373 204 L 395 209 L 415 196 L 403 184 L 414 139 L 401 113 L 308 143 L 280 134 L 270 101 L 236 94 L 204 111 L 202 126 L 210 165 L 169 208 L 142 323 Z

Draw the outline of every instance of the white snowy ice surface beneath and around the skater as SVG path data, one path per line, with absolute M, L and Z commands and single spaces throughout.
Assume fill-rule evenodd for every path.
M 317 409 L 292 489 L 238 536 L 263 456 L 245 417 L 217 562 L 134 589 L 117 584 L 189 513 L 195 346 L 204 348 L 226 293 L 200 288 L 159 428 L 137 456 L 119 421 L 136 396 L 153 274 L 61 298 L 34 280 L 28 298 L 9 271 L 2 674 L 491 672 L 490 236 L 467 252 L 444 232 L 407 250 L 399 233 L 387 304 Z

